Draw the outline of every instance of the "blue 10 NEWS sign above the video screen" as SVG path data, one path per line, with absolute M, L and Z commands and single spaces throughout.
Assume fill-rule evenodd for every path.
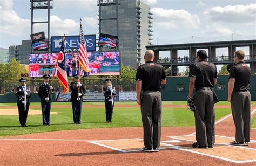
M 62 45 L 63 36 L 51 37 L 51 51 L 59 52 Z M 84 36 L 87 51 L 96 51 L 96 35 Z M 79 36 L 65 36 L 65 52 L 78 52 L 79 51 Z

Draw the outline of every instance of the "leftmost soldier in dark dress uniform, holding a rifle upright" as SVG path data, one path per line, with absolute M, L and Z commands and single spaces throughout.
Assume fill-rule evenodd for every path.
M 26 87 L 26 78 L 23 77 L 19 79 L 19 82 L 21 82 L 21 86 L 18 86 L 16 91 L 19 123 L 21 124 L 21 127 L 27 127 L 26 119 L 29 112 L 29 98 L 31 97 L 30 88 Z

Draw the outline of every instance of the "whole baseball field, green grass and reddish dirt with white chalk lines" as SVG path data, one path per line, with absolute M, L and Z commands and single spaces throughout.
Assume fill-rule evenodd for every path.
M 256 101 L 251 103 L 251 142 L 230 146 L 235 128 L 230 103 L 215 105 L 216 143 L 194 149 L 194 115 L 185 101 L 163 102 L 159 153 L 143 153 L 143 128 L 136 102 L 116 102 L 112 123 L 104 102 L 84 102 L 82 124 L 73 124 L 70 102 L 52 103 L 51 126 L 42 125 L 41 103 L 31 103 L 26 125 L 19 127 L 16 103 L 0 103 L 0 165 L 171 165 L 256 164 Z

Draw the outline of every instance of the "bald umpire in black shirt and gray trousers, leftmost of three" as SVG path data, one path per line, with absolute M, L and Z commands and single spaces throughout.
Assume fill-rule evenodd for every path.
M 147 50 L 145 64 L 136 73 L 137 103 L 140 105 L 143 123 L 143 151 L 159 151 L 161 137 L 161 84 L 166 84 L 163 66 L 153 63 L 154 52 Z

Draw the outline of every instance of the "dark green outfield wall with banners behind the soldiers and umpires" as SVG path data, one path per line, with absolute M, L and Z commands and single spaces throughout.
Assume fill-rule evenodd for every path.
M 167 77 L 167 84 L 163 86 L 162 99 L 163 101 L 186 101 L 188 95 L 188 86 L 189 86 L 189 77 Z M 256 101 L 256 75 L 251 75 L 251 99 Z M 130 84 L 130 86 L 135 86 Z M 219 100 L 227 100 L 227 87 L 228 87 L 228 75 L 219 75 L 217 85 L 214 87 L 214 91 L 217 93 Z M 103 98 L 99 100 L 92 99 L 93 93 L 102 93 L 102 92 L 89 92 L 90 100 L 85 101 L 102 101 Z M 134 98 L 131 98 L 134 95 L 134 92 L 118 92 L 120 95 L 117 98 L 118 101 L 132 101 Z M 122 94 L 122 95 L 121 95 Z M 53 93 L 53 101 L 56 101 L 57 93 Z M 120 98 L 121 97 L 121 98 Z M 134 97 L 134 96 L 133 96 Z M 16 102 L 16 94 L 4 94 L 0 95 L 0 102 Z M 33 93 L 30 99 L 31 102 L 40 102 L 40 98 L 37 93 Z M 61 100 L 60 100 L 61 101 Z

